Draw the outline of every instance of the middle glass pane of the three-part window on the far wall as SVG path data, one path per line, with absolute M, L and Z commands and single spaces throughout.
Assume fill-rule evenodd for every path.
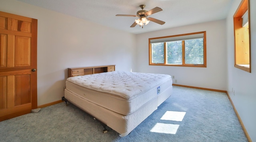
M 182 64 L 182 41 L 167 43 L 167 63 Z

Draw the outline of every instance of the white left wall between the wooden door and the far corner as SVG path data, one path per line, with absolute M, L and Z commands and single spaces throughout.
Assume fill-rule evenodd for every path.
M 38 105 L 64 96 L 68 67 L 114 64 L 123 71 L 135 67 L 134 34 L 16 0 L 0 0 L 0 10 L 38 19 Z

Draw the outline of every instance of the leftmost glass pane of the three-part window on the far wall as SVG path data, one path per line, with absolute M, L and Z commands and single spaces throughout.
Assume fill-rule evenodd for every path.
M 164 63 L 164 43 L 152 43 L 152 63 Z

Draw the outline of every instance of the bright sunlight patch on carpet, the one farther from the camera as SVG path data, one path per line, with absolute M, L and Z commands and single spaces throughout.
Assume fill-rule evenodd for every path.
M 186 112 L 166 111 L 161 120 L 182 121 Z

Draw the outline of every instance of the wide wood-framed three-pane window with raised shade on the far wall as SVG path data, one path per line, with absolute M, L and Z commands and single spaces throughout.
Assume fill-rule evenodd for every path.
M 149 65 L 206 67 L 206 32 L 148 39 Z

